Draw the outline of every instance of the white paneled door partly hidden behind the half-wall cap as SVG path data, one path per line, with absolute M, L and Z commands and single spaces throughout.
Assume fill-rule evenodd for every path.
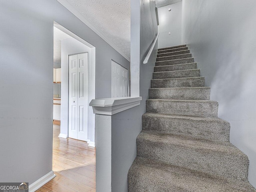
M 128 70 L 111 61 L 111 97 L 128 97 Z

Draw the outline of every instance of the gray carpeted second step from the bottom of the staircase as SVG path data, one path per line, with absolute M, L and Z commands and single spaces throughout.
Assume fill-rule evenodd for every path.
M 137 155 L 233 180 L 248 180 L 248 157 L 229 142 L 142 130 Z

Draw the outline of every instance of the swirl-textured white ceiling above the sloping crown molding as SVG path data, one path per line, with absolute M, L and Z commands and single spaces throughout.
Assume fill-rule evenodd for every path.
M 66 0 L 130 58 L 130 0 Z

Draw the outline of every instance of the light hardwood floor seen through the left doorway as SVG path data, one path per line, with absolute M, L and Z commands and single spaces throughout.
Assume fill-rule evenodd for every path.
M 86 142 L 59 138 L 53 125 L 52 170 L 56 177 L 36 192 L 96 192 L 95 148 Z

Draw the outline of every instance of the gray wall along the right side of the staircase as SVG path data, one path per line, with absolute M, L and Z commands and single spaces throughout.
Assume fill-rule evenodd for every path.
M 256 1 L 183 0 L 182 43 L 187 42 L 218 116 L 231 123 L 230 142 L 250 159 L 256 187 Z

